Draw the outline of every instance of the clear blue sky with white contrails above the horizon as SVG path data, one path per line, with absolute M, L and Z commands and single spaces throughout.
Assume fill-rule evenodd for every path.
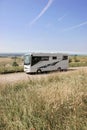
M 87 54 L 87 0 L 0 0 L 0 52 Z

